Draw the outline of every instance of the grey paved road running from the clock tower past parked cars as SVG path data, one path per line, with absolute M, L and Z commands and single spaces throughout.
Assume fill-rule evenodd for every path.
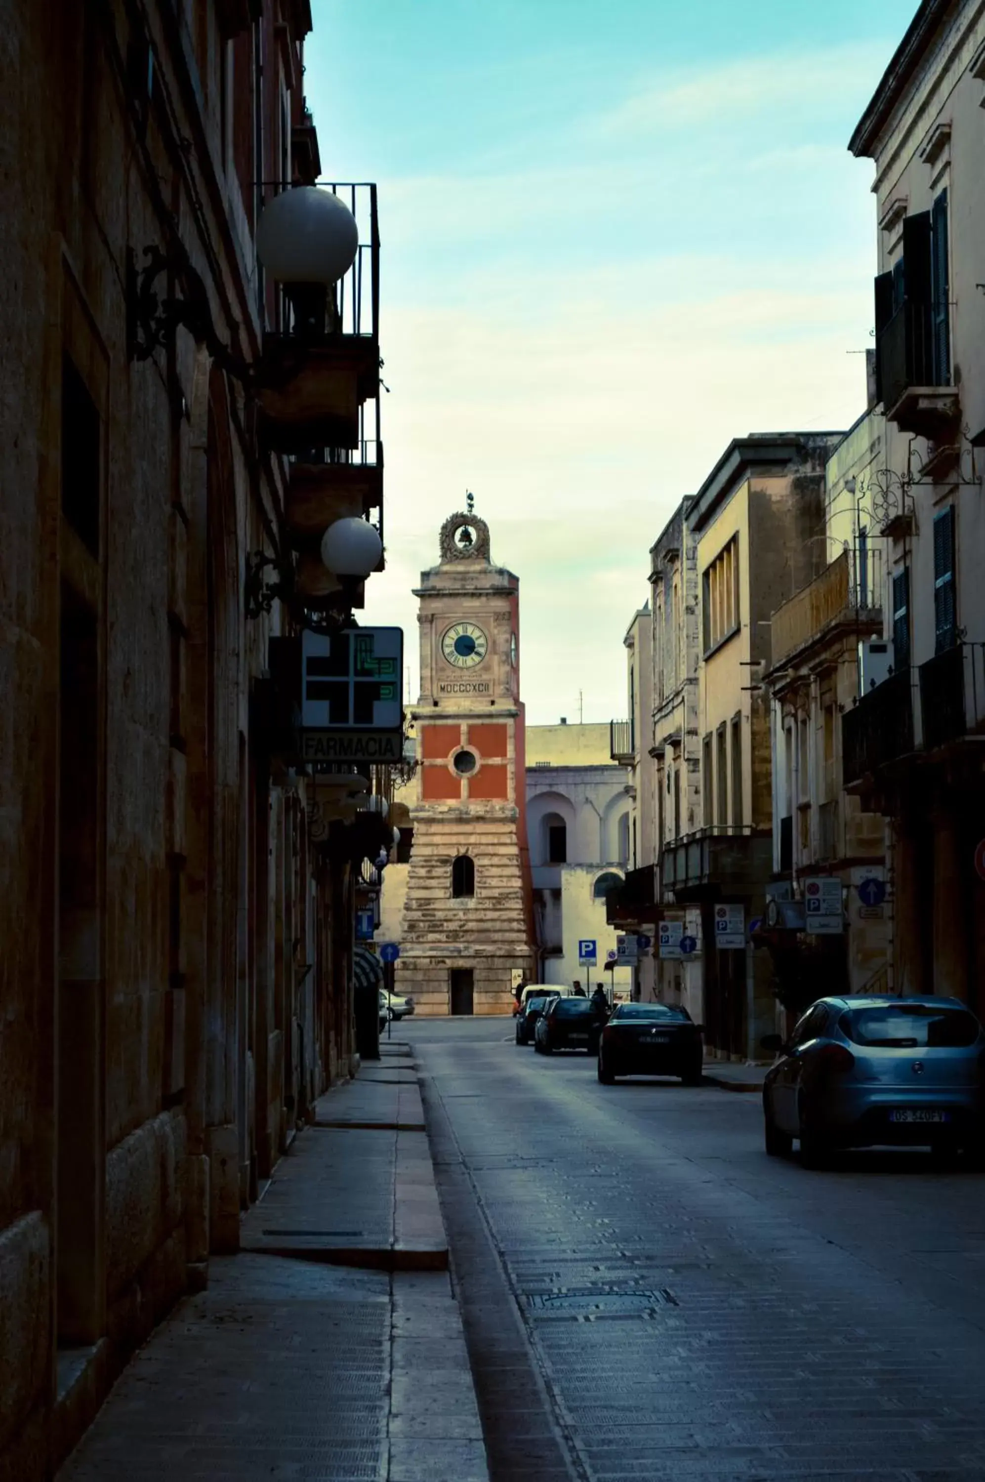
M 400 1037 L 493 1482 L 985 1479 L 985 1177 L 807 1172 L 757 1095 L 601 1086 L 508 1020 Z

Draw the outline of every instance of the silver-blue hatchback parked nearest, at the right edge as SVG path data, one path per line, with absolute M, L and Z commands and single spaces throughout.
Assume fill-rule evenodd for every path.
M 804 1166 L 835 1147 L 887 1143 L 982 1153 L 985 1033 L 960 999 L 829 997 L 800 1020 L 766 1073 L 766 1152 L 800 1140 Z

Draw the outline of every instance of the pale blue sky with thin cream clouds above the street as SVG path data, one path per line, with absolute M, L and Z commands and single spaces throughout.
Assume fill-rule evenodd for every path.
M 872 165 L 915 0 L 313 0 L 321 165 L 379 187 L 387 571 L 465 491 L 520 576 L 527 722 L 627 710 L 649 548 L 733 437 L 847 428 Z

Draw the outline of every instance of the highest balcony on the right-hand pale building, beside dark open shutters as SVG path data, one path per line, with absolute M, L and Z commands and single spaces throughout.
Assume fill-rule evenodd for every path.
M 938 442 L 960 416 L 952 385 L 938 385 L 930 304 L 904 302 L 878 336 L 883 405 L 902 433 Z

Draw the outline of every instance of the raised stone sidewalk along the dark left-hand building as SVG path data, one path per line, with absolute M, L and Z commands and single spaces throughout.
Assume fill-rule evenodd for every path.
M 422 1128 L 395 1042 L 321 1097 L 58 1482 L 487 1482 Z

